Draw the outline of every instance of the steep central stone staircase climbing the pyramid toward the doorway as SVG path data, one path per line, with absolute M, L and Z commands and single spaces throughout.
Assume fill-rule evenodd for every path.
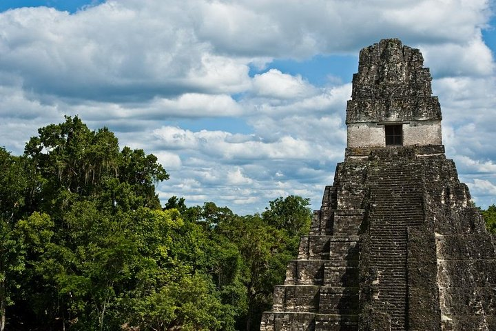
M 371 174 L 370 265 L 378 274 L 373 307 L 391 330 L 407 330 L 407 228 L 424 222 L 422 177 L 411 162 L 387 162 Z

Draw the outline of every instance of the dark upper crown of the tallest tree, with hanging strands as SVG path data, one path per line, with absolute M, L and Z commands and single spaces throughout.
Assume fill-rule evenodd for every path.
M 43 178 L 39 208 L 63 212 L 81 197 L 114 211 L 160 208 L 154 184 L 169 175 L 153 154 L 128 147 L 119 152 L 110 130 L 91 131 L 79 117 L 38 132 L 26 143 L 25 155 Z

